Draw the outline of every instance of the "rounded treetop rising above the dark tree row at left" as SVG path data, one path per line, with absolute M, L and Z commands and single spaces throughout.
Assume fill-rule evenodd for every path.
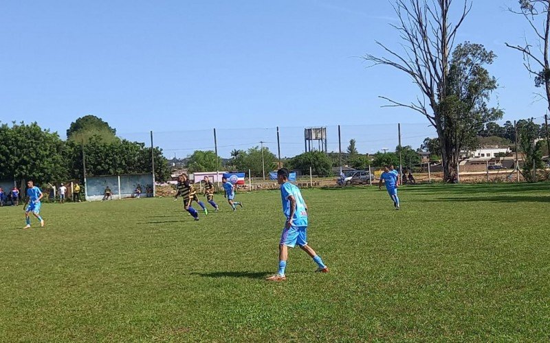
M 95 115 L 85 115 L 76 119 L 67 130 L 67 139 L 78 143 L 86 144 L 92 137 L 99 137 L 105 143 L 119 141 L 116 130 Z

